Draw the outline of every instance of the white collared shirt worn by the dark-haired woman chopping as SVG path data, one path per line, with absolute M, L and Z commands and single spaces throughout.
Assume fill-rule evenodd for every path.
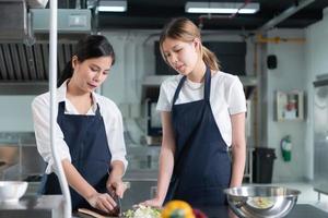
M 74 106 L 66 98 L 67 93 L 67 81 L 57 89 L 57 102 L 65 101 L 66 114 L 79 114 Z M 97 110 L 97 104 L 101 108 L 101 114 L 104 119 L 108 147 L 112 153 L 112 161 L 120 160 L 127 168 L 128 161 L 126 159 L 126 145 L 124 140 L 124 125 L 122 118 L 119 109 L 114 101 L 108 98 L 101 96 L 96 93 L 92 93 L 93 107 L 87 111 L 87 116 L 94 116 Z M 50 111 L 50 94 L 45 93 L 37 96 L 32 102 L 34 130 L 37 149 L 44 160 L 48 164 L 46 173 L 57 171 L 54 164 L 54 157 L 50 148 L 50 123 L 49 123 L 49 111 Z M 56 123 L 56 146 L 60 160 L 68 159 L 71 161 L 69 147 L 63 140 L 63 133 Z

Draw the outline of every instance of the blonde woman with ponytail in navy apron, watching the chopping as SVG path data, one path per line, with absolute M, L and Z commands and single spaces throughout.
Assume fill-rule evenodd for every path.
M 215 55 L 201 45 L 198 27 L 187 19 L 166 24 L 160 49 L 178 75 L 161 86 L 157 194 L 143 204 L 162 206 L 171 199 L 195 207 L 225 204 L 223 190 L 241 185 L 244 174 L 243 85 L 237 76 L 219 70 Z

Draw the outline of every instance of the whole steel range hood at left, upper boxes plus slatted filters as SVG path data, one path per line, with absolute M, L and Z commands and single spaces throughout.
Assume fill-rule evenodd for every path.
M 23 0 L 0 0 L 0 95 L 36 95 L 46 92 L 49 10 L 30 9 L 28 17 L 32 23 L 28 31 L 28 20 L 25 21 L 25 15 L 19 16 L 16 23 L 5 24 L 7 20 L 1 19 L 2 5 L 10 3 L 2 4 L 3 2 L 16 3 L 11 4 L 11 8 L 7 7 L 7 14 L 20 15 L 16 13 L 17 5 L 22 13 L 26 12 L 26 3 Z M 58 10 L 58 72 L 61 72 L 70 60 L 77 41 L 91 32 L 90 10 Z

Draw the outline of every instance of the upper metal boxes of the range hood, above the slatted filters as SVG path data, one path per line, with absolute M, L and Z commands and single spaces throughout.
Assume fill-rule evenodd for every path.
M 25 41 L 34 34 L 49 32 L 47 0 L 0 0 L 0 40 Z M 91 32 L 91 11 L 87 9 L 59 9 L 58 33 Z

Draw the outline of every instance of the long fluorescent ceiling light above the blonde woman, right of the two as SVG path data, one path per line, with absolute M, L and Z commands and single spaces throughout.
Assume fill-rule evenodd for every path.
M 259 10 L 259 3 L 232 3 L 232 2 L 187 2 L 187 13 L 244 13 L 251 14 Z M 242 8 L 243 7 L 243 8 Z M 238 11 L 239 9 L 239 11 Z

